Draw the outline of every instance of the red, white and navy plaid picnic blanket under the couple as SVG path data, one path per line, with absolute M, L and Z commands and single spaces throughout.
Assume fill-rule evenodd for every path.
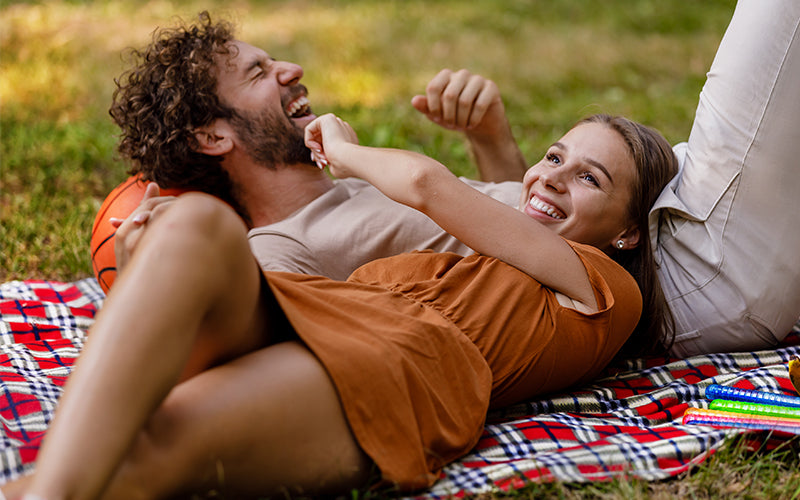
M 0 284 L 0 484 L 33 468 L 61 388 L 104 295 L 94 279 Z M 786 362 L 800 355 L 800 322 L 779 349 L 684 360 L 636 359 L 580 389 L 489 415 L 475 449 L 444 468 L 420 499 L 510 490 L 531 481 L 658 480 L 754 431 L 682 425 L 716 383 L 793 394 Z

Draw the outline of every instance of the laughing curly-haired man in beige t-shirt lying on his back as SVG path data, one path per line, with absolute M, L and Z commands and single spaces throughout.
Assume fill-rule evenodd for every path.
M 228 200 L 252 228 L 251 247 L 263 269 L 345 279 L 366 262 L 405 251 L 470 252 L 419 212 L 365 182 L 333 181 L 311 161 L 303 130 L 315 115 L 300 66 L 234 40 L 232 29 L 208 14 L 196 28 L 163 30 L 141 55 L 120 80 L 111 109 L 123 130 L 121 153 L 134 173 L 163 187 Z M 443 70 L 412 103 L 466 133 L 482 179 L 522 179 L 527 165 L 493 82 Z M 519 201 L 517 182 L 465 182 L 507 204 Z M 140 212 L 166 202 L 145 201 Z M 143 217 L 117 232 L 119 267 L 138 241 Z

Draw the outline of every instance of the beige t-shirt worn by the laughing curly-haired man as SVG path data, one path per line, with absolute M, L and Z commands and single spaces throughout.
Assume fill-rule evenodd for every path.
M 510 206 L 521 183 L 464 182 Z M 366 181 L 339 179 L 288 218 L 253 228 L 250 247 L 265 271 L 345 280 L 362 264 L 412 250 L 472 253 L 426 215 L 387 198 Z

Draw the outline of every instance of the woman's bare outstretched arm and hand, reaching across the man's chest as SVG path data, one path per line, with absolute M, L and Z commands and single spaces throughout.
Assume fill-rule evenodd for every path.
M 333 115 L 306 127 L 306 143 L 337 177 L 366 180 L 389 198 L 426 214 L 473 250 L 596 310 L 583 263 L 555 232 L 472 189 L 427 156 L 359 146 L 354 138 L 352 128 Z

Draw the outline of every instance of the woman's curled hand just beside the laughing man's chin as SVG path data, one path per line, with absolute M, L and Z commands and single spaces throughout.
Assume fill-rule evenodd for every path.
M 358 136 L 349 123 L 331 113 L 322 115 L 306 126 L 305 143 L 319 168 L 327 166 L 339 178 L 353 175 L 337 156 L 343 145 L 358 144 Z

